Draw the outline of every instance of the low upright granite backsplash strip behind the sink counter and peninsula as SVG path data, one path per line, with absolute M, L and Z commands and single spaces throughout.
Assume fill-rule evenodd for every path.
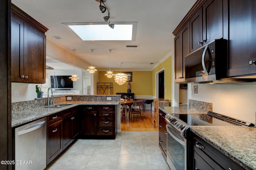
M 72 100 L 67 100 L 70 97 Z M 107 100 L 107 97 L 110 97 L 111 100 Z M 88 101 L 88 102 L 119 102 L 121 95 L 63 95 L 63 96 L 54 96 L 54 104 L 59 104 L 63 102 L 76 102 L 76 101 Z M 42 107 L 47 105 L 47 98 L 36 98 L 35 100 L 29 100 L 24 102 L 14 102 L 12 103 L 12 112 L 22 111 L 26 109 L 31 109 L 35 107 Z

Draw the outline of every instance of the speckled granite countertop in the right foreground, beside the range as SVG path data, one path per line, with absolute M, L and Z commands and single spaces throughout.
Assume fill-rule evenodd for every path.
M 256 170 L 256 128 L 191 127 L 190 130 L 247 170 Z

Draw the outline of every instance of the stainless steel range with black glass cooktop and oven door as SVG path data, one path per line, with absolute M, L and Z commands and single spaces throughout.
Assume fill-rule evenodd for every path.
M 207 114 L 166 114 L 167 164 L 170 170 L 187 170 L 188 135 L 191 126 L 244 126 L 254 124 L 212 111 Z

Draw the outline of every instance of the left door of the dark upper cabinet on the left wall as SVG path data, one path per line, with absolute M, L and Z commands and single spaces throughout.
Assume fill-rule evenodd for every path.
M 23 32 L 24 32 L 24 23 L 22 19 L 12 12 L 12 21 L 11 21 L 11 79 L 12 82 L 23 82 L 24 78 L 21 78 L 24 75 L 23 70 Z M 22 63 L 22 64 L 20 64 Z

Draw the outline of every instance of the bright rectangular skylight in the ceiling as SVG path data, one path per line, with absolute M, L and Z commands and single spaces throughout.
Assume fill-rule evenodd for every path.
M 135 41 L 137 22 L 114 23 L 62 23 L 83 41 Z

